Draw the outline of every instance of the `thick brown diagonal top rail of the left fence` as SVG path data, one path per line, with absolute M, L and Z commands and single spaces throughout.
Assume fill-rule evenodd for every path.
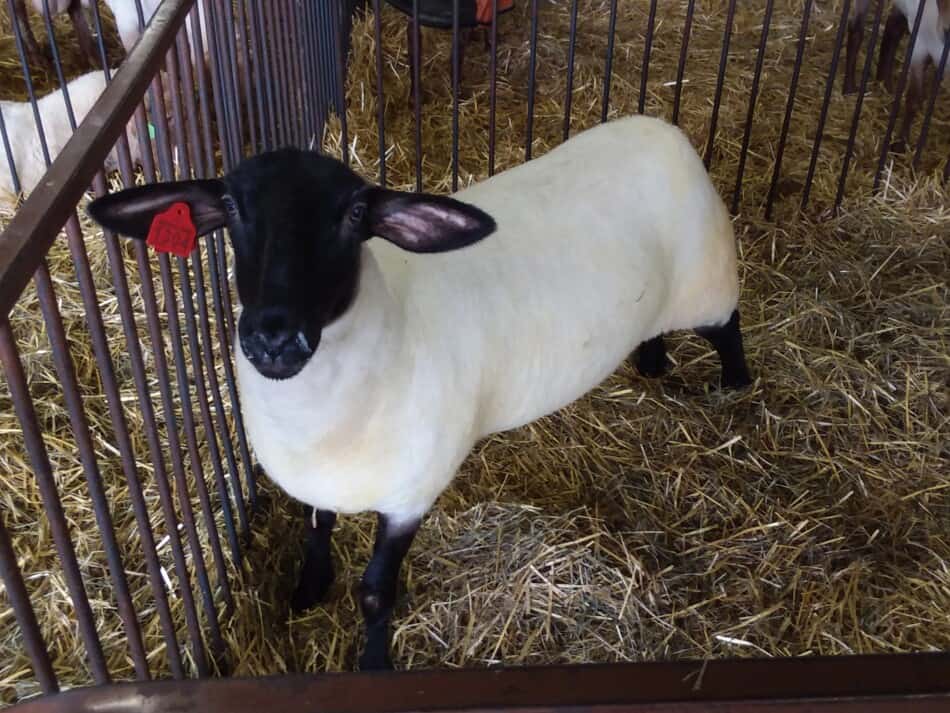
M 193 0 L 166 0 L 45 180 L 0 236 L 0 314 L 8 314 L 115 144 Z M 147 136 L 146 136 L 147 138 Z

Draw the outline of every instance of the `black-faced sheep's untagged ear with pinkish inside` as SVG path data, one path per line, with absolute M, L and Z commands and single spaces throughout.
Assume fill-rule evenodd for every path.
M 375 188 L 367 207 L 372 235 L 415 253 L 464 248 L 497 227 L 484 211 L 447 196 Z

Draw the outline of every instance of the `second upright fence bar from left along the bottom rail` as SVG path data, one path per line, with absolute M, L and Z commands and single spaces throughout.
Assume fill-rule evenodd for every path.
M 20 361 L 20 354 L 14 342 L 13 332 L 6 320 L 0 322 L 0 363 L 3 364 L 3 370 L 6 373 L 13 409 L 23 428 L 23 440 L 33 464 L 36 483 L 39 486 L 40 496 L 43 500 L 43 509 L 63 568 L 66 588 L 69 590 L 69 596 L 76 611 L 76 621 L 79 625 L 79 633 L 83 644 L 86 647 L 89 669 L 96 683 L 109 683 L 109 670 L 105 656 L 102 653 L 102 643 L 99 641 L 99 635 L 96 632 L 95 617 L 92 608 L 89 606 L 89 597 L 83 585 L 79 563 L 76 561 L 76 551 L 73 549 L 73 543 L 69 537 L 69 526 L 66 523 L 62 503 L 59 500 L 56 480 L 53 477 L 53 469 L 49 462 L 46 446 L 43 443 L 40 425 L 36 420 L 33 399 L 26 383 L 26 375 L 23 373 L 23 364 Z

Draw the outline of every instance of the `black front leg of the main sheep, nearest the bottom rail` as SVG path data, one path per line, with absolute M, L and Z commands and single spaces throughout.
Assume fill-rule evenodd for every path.
M 394 528 L 385 515 L 379 516 L 373 557 L 360 583 L 360 608 L 366 624 L 366 648 L 360 656 L 362 671 L 393 667 L 389 622 L 396 603 L 399 570 L 418 529 L 418 521 Z

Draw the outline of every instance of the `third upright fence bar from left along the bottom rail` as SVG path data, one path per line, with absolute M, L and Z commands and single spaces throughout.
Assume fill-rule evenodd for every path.
M 76 215 L 70 216 L 70 230 L 75 233 L 80 230 Z M 106 498 L 102 485 L 102 475 L 96 462 L 96 451 L 92 445 L 89 433 L 89 423 L 83 410 L 82 397 L 79 394 L 79 383 L 76 380 L 76 370 L 72 355 L 66 341 L 66 332 L 63 328 L 63 319 L 56 304 L 56 295 L 53 291 L 53 281 L 50 279 L 49 268 L 44 259 L 35 275 L 36 295 L 46 324 L 46 333 L 49 336 L 50 347 L 53 352 L 53 362 L 56 375 L 63 389 L 63 400 L 69 414 L 70 426 L 76 439 L 79 460 L 82 464 L 83 475 L 89 490 L 89 499 L 92 501 L 92 510 L 95 514 L 96 525 L 102 537 L 102 546 L 105 550 L 106 562 L 109 567 L 110 579 L 115 590 L 116 604 L 119 617 L 125 629 L 129 644 L 129 653 L 138 678 L 151 678 L 148 670 L 148 660 L 145 655 L 145 645 L 142 642 L 142 629 L 132 604 L 132 595 L 129 592 L 129 582 L 125 576 L 125 567 L 122 555 L 119 553 L 119 543 L 116 540 L 115 528 L 112 524 L 112 513 L 109 511 L 109 500 Z

